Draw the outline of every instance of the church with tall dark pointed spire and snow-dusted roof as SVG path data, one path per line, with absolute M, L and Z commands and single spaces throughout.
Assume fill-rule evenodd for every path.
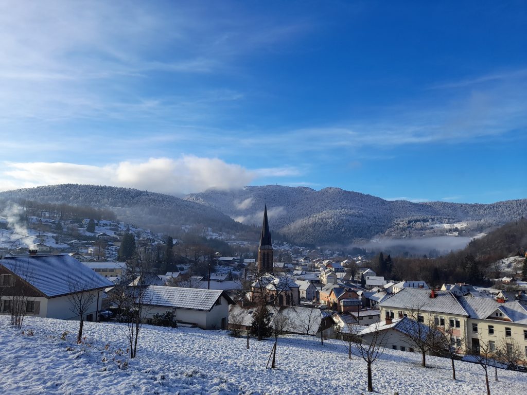
M 300 303 L 299 285 L 287 273 L 274 275 L 271 232 L 267 219 L 267 204 L 258 245 L 256 281 L 251 285 L 250 300 L 257 302 L 264 295 L 269 304 L 294 306 Z

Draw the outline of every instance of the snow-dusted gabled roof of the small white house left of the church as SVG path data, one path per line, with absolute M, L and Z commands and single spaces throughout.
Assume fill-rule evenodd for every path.
M 221 295 L 232 302 L 227 294 L 221 290 L 150 285 L 144 293 L 144 300 L 145 304 L 149 305 L 209 311 Z

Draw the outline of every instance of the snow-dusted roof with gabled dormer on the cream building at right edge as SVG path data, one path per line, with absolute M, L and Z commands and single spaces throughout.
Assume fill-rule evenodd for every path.
M 527 310 L 518 301 L 499 303 L 495 299 L 476 297 L 461 297 L 458 300 L 471 318 L 485 320 L 499 309 L 512 322 L 527 324 Z

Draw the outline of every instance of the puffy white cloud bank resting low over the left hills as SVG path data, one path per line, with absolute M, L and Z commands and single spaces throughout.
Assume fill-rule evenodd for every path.
M 186 155 L 179 159 L 151 158 L 145 162 L 83 165 L 63 162 L 4 162 L 2 190 L 37 185 L 79 183 L 126 186 L 153 192 L 186 194 L 209 188 L 236 189 L 256 173 L 217 158 Z

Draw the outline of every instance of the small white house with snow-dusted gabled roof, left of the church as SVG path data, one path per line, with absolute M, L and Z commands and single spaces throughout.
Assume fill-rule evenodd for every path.
M 180 323 L 201 329 L 227 329 L 229 304 L 233 303 L 225 291 L 150 285 L 144 293 L 148 310 L 145 320 L 170 311 Z

